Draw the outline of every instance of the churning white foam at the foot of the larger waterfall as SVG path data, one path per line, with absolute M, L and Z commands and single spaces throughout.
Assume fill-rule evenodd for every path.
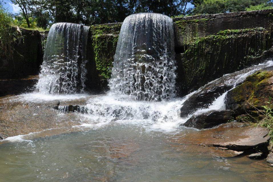
M 110 123 L 138 125 L 147 130 L 172 132 L 179 123 L 180 108 L 193 93 L 168 102 L 132 101 L 111 95 L 98 96 L 88 100 L 88 114 L 80 114 L 82 124 L 74 127 L 98 128 Z

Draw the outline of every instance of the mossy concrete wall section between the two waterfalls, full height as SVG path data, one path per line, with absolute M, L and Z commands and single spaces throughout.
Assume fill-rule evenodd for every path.
M 111 76 L 121 25 L 110 23 L 90 26 L 87 46 L 90 61 L 86 65 L 86 85 L 91 92 L 108 89 L 107 80 Z

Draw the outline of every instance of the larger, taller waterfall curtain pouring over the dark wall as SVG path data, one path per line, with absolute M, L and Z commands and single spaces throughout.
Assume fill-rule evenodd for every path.
M 128 16 L 121 27 L 110 93 L 134 100 L 175 96 L 173 20 L 157 13 Z

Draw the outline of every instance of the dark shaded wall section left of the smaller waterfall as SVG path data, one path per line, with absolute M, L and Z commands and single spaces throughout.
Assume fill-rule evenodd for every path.
M 18 78 L 39 72 L 43 56 L 41 34 L 27 29 L 20 31 L 23 38 L 13 44 L 12 58 L 0 58 L 0 78 Z

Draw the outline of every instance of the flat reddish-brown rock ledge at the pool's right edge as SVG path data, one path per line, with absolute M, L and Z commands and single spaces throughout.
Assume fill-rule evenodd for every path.
M 269 139 L 266 128 L 252 128 L 249 124 L 231 122 L 221 124 L 217 128 L 180 136 L 178 143 L 212 147 L 225 153 L 231 153 L 230 157 L 234 157 L 243 153 L 251 154 L 262 151 L 267 148 Z

